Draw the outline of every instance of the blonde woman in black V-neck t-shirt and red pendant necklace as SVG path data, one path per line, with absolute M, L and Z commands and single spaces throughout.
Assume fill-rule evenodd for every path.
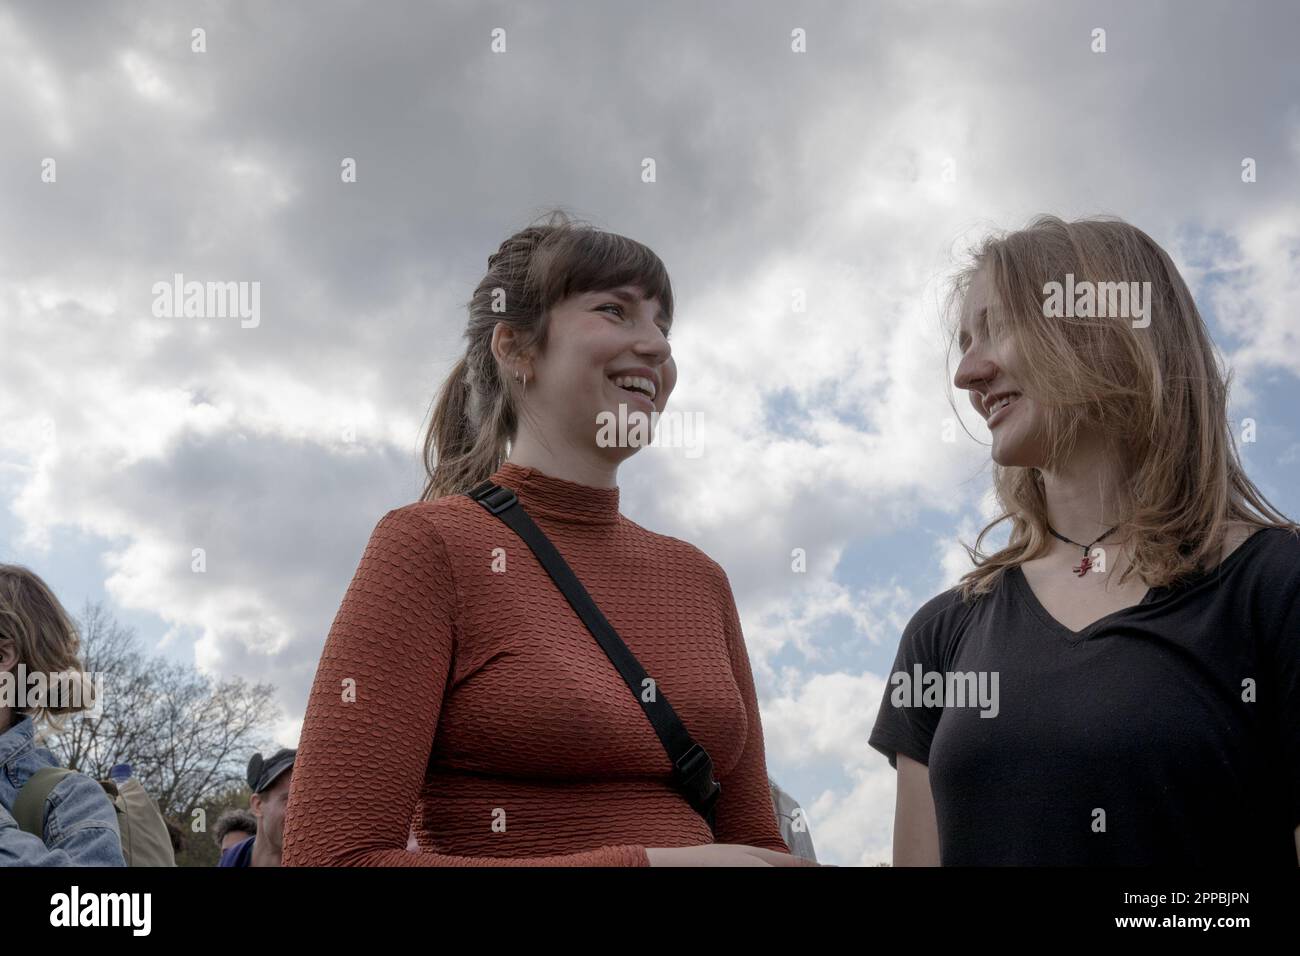
M 870 737 L 894 861 L 1296 865 L 1300 536 L 1242 468 L 1174 263 L 1043 216 L 984 242 L 954 302 L 1002 514 L 905 628 Z

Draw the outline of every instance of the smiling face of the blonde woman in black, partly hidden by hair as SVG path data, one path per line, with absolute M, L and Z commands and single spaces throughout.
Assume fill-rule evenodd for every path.
M 957 337 L 962 360 L 953 384 L 966 389 L 971 406 L 988 424 L 994 462 L 1043 467 L 1048 453 L 1043 406 L 1026 395 L 1017 381 L 1019 354 L 1013 338 L 989 333 L 988 311 L 997 307 L 992 295 L 988 271 L 979 269 L 962 303 Z

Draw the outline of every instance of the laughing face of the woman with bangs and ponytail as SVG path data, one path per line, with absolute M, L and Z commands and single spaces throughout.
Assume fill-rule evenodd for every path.
M 524 415 L 540 421 L 549 440 L 575 449 L 597 447 L 598 415 L 619 406 L 634 412 L 662 412 L 677 384 L 677 364 L 668 345 L 672 320 L 656 299 L 630 286 L 578 293 L 551 308 L 545 351 L 512 367 L 528 375 Z M 497 333 L 503 328 L 498 326 Z M 623 388 L 616 384 L 623 382 Z M 636 447 L 601 447 L 615 460 Z

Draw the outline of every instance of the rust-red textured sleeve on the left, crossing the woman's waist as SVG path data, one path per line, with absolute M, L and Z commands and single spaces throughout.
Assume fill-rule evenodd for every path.
M 445 544 L 420 507 L 380 520 L 330 627 L 290 782 L 283 864 L 647 866 L 640 845 L 542 857 L 407 849 L 459 606 Z

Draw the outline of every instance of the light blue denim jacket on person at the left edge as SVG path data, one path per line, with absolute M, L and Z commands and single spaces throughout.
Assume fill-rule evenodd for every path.
M 117 810 L 98 780 L 68 774 L 46 801 L 46 839 L 18 829 L 13 801 L 42 767 L 58 766 L 35 743 L 31 717 L 0 734 L 0 866 L 125 866 Z

